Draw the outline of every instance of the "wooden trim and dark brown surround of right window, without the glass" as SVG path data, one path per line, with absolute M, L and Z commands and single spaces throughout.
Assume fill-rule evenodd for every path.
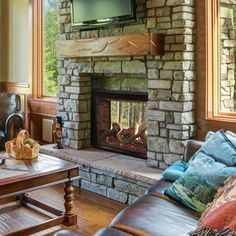
M 218 112 L 219 93 L 215 86 L 220 75 L 219 2 L 197 0 L 197 63 L 196 63 L 196 124 L 197 138 L 203 139 L 209 130 L 236 132 L 236 113 Z M 219 84 L 218 84 L 219 86 Z M 205 95 L 205 96 L 204 96 Z M 217 103 L 213 102 L 217 99 Z

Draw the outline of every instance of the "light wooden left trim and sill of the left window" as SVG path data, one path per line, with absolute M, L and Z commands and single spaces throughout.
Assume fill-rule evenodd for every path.
M 43 1 L 32 5 L 32 98 L 56 102 L 56 97 L 43 96 Z

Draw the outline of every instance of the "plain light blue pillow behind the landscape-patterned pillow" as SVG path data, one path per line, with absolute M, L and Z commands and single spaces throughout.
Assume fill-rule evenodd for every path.
M 223 130 L 217 131 L 202 145 L 198 152 L 203 151 L 216 161 L 224 163 L 227 166 L 236 165 L 236 147 L 227 138 Z M 196 152 L 192 159 L 194 159 Z

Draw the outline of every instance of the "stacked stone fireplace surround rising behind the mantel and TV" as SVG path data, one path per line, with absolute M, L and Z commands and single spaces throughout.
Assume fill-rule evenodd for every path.
M 114 78 L 144 78 L 149 98 L 147 165 L 165 168 L 182 158 L 185 140 L 195 132 L 194 1 L 136 0 L 136 4 L 135 23 L 79 31 L 71 27 L 70 1 L 60 0 L 60 39 L 156 32 L 165 34 L 165 54 L 60 59 L 58 114 L 64 120 L 64 144 L 88 147 L 92 81 L 102 76 L 110 77 L 111 84 Z

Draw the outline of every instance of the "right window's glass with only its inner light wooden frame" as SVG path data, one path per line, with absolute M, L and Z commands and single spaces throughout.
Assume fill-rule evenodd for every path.
M 212 11 L 214 71 L 212 72 L 212 81 L 209 81 L 212 83 L 212 88 L 209 86 L 209 89 L 212 89 L 212 100 L 208 97 L 208 102 L 212 102 L 212 112 L 209 113 L 209 118 L 234 119 L 236 117 L 236 4 L 234 1 L 217 0 L 213 3 Z M 209 91 L 208 93 L 211 94 Z

